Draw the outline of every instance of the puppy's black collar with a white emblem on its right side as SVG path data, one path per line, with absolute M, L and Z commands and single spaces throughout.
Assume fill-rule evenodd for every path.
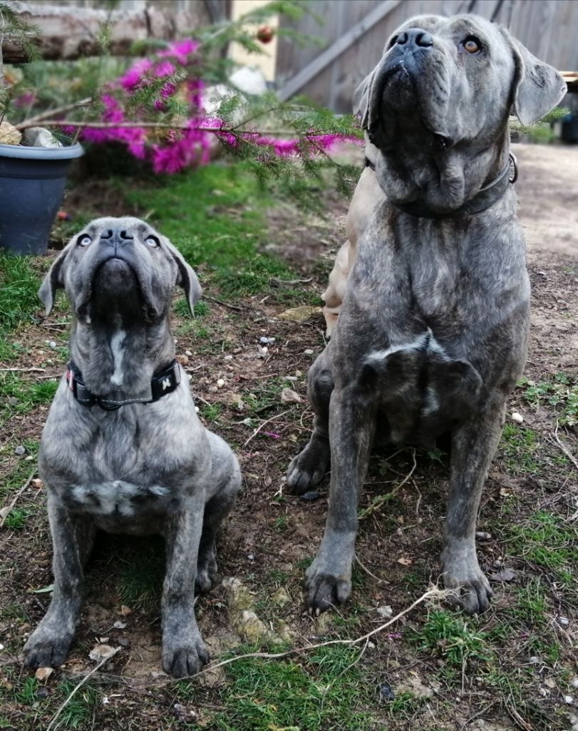
M 153 376 L 150 381 L 150 393 L 136 398 L 127 397 L 126 393 L 120 390 L 111 391 L 106 396 L 95 395 L 85 386 L 82 374 L 72 360 L 66 366 L 66 384 L 82 406 L 98 405 L 105 411 L 113 411 L 126 404 L 152 404 L 167 393 L 172 393 L 180 384 L 180 368 L 177 361 L 173 360 L 169 366 Z

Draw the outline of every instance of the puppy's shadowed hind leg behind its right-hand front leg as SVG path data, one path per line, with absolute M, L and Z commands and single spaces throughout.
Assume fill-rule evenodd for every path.
M 196 594 L 206 594 L 215 583 L 217 577 L 215 537 L 220 524 L 233 510 L 240 487 L 241 473 L 236 459 L 233 458 L 233 464 L 228 471 L 228 477 L 223 486 L 205 504 L 203 532 L 199 543 L 199 558 L 197 559 Z

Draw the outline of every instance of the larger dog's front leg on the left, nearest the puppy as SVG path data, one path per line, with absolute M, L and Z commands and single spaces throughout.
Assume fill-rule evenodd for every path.
M 375 412 L 355 388 L 334 390 L 329 406 L 331 485 L 325 533 L 305 577 L 309 613 L 342 604 L 351 593 L 358 500 L 374 438 Z

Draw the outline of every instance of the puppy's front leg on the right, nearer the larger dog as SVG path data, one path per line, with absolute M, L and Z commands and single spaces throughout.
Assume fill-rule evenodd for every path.
M 175 678 L 209 662 L 195 618 L 195 580 L 203 527 L 204 494 L 189 498 L 166 526 L 163 586 L 163 669 Z

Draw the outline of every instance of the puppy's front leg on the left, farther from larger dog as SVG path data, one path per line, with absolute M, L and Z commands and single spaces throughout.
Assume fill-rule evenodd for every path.
M 84 564 L 95 532 L 90 518 L 66 510 L 50 491 L 47 502 L 54 588 L 45 617 L 24 645 L 24 660 L 31 667 L 58 667 L 66 659 L 80 618 Z

